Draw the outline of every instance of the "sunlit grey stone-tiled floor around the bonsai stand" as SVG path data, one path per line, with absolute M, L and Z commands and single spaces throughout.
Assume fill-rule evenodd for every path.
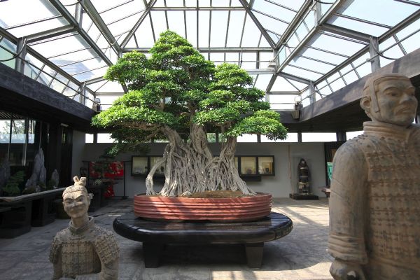
M 132 200 L 113 200 L 91 216 L 112 230 L 116 216 L 132 211 Z M 141 243 L 116 235 L 120 245 L 119 278 L 191 280 L 318 280 L 332 279 L 328 269 L 328 200 L 276 199 L 273 211 L 293 220 L 292 232 L 265 243 L 261 269 L 246 265 L 244 248 L 236 245 L 167 246 L 158 268 L 145 268 Z M 15 239 L 0 239 L 0 279 L 51 279 L 48 261 L 52 237 L 69 220 L 56 220 Z

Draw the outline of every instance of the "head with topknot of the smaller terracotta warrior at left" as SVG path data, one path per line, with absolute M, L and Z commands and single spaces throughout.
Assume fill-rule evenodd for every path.
M 63 192 L 64 210 L 71 218 L 80 218 L 87 215 L 87 209 L 90 205 L 90 195 L 85 188 L 84 177 L 74 178 L 75 185 L 67 187 Z M 83 183 L 80 183 L 82 182 Z

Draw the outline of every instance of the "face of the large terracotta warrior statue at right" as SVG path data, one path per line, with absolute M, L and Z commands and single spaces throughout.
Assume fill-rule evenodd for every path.
M 379 112 L 370 112 L 372 120 L 407 127 L 416 117 L 417 99 L 409 80 L 384 80 L 377 85 Z

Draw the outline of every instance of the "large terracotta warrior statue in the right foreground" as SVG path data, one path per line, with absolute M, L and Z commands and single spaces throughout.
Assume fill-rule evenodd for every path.
M 360 106 L 372 121 L 335 154 L 328 244 L 334 279 L 420 279 L 414 90 L 395 73 L 368 79 Z

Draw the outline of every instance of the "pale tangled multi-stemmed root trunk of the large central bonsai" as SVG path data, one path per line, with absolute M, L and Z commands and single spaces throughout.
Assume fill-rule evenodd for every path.
M 236 139 L 230 138 L 223 145 L 221 154 L 213 157 L 207 144 L 204 128 L 191 126 L 190 143 L 179 134 L 165 127 L 169 144 L 163 158 L 156 162 L 146 178 L 146 195 L 157 195 L 153 190 L 153 175 L 165 166 L 165 184 L 161 196 L 179 196 L 206 190 L 240 190 L 244 195 L 255 195 L 239 177 L 235 167 Z

